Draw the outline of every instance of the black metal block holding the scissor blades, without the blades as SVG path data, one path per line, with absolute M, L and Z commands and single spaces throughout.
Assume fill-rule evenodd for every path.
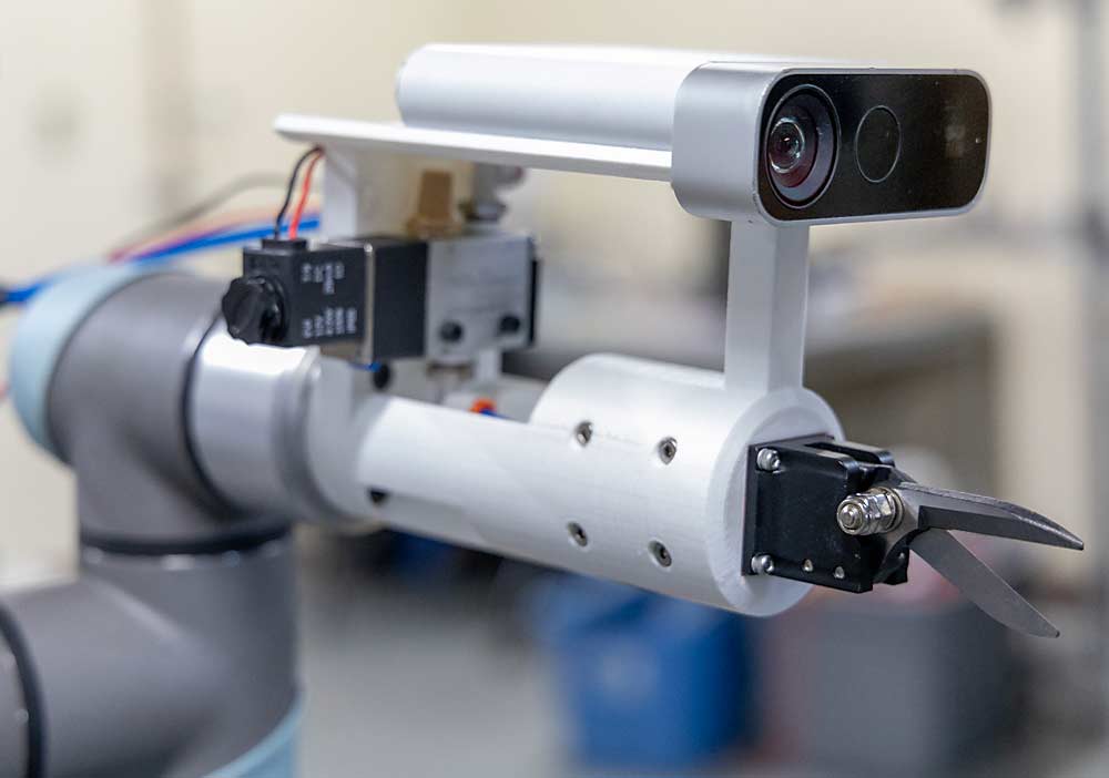
M 763 458 L 773 467 L 760 468 L 763 449 L 776 453 Z M 876 583 L 904 583 L 909 556 L 904 549 L 892 549 L 889 539 L 881 535 L 848 535 L 836 521 L 844 499 L 903 480 L 908 479 L 896 469 L 893 455 L 871 446 L 828 437 L 752 446 L 744 574 L 770 573 L 855 593 L 868 592 Z M 753 570 L 752 562 L 764 555 L 771 569 Z

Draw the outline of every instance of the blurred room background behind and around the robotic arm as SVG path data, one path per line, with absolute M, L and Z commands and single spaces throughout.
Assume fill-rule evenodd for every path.
M 981 551 L 1062 629 L 995 628 L 924 565 L 745 620 L 388 533 L 302 533 L 304 775 L 1109 775 L 1109 244 L 1100 0 L 0 0 L 0 280 L 103 254 L 301 151 L 282 112 L 393 117 L 429 41 L 714 49 L 980 71 L 991 168 L 957 219 L 813 232 L 807 385 L 922 481 L 1028 505 L 1082 554 Z M 279 186 L 279 184 L 278 184 Z M 235 207 L 274 208 L 281 191 Z M 726 228 L 668 186 L 530 174 L 550 376 L 721 365 Z M 648 226 L 644 226 L 648 225 Z M 203 268 L 232 275 L 236 254 Z M 0 311 L 6 351 L 16 311 Z M 141 377 L 135 377 L 141 380 Z M 70 473 L 0 408 L 0 583 L 72 569 Z

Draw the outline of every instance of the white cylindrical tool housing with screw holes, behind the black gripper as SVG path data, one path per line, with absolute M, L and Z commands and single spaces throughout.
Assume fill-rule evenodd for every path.
M 720 373 L 615 356 L 559 373 L 527 424 L 385 397 L 355 417 L 358 484 L 448 509 L 436 534 L 759 615 L 791 606 L 807 586 L 742 575 L 747 447 L 840 434 L 802 389 L 725 390 Z M 586 446 L 574 439 L 582 421 L 593 429 Z M 678 455 L 664 464 L 658 444 L 668 437 Z M 388 502 L 375 518 L 429 529 Z M 586 547 L 570 522 L 586 530 Z M 670 567 L 655 562 L 652 542 L 669 550 Z

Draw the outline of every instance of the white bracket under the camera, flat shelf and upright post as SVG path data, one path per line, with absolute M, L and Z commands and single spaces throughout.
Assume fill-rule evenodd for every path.
M 391 212 L 406 204 L 378 196 L 367 182 L 399 180 L 387 166 L 414 155 L 659 181 L 671 174 L 669 152 L 643 149 L 296 115 L 281 116 L 277 131 L 327 149 L 327 235 L 367 232 L 368 214 L 374 222 L 398 222 Z M 733 221 L 724 352 L 729 391 L 761 396 L 802 385 L 807 297 L 808 227 Z

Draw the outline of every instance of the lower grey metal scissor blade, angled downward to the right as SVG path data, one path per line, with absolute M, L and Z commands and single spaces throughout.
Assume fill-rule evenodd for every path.
M 909 549 L 955 584 L 970 602 L 1007 627 L 1037 637 L 1059 636 L 1051 622 L 950 533 L 927 530 L 913 539 Z

